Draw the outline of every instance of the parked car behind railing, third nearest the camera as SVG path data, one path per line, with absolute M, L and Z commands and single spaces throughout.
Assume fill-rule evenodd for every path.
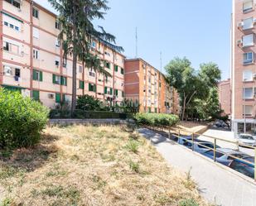
M 184 146 L 192 149 L 193 143 L 186 141 L 184 143 Z M 215 145 L 214 143 L 210 142 L 210 141 L 203 141 L 203 140 L 195 140 L 194 143 L 194 151 L 198 152 L 198 153 L 204 153 L 205 151 L 209 151 L 210 148 L 214 149 Z M 216 148 L 220 148 L 220 146 L 216 146 Z

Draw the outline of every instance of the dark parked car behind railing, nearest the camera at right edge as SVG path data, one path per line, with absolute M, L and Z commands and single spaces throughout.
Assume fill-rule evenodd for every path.
M 243 160 L 248 160 L 252 163 L 249 164 L 248 162 L 244 162 Z M 233 160 L 230 163 L 229 167 L 233 170 L 239 171 L 244 175 L 254 178 L 254 157 L 249 156 L 244 158 L 243 160 Z

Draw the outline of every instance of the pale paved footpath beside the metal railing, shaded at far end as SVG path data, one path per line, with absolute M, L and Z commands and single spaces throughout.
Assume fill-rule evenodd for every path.
M 202 196 L 210 203 L 222 206 L 256 205 L 256 185 L 155 132 L 146 128 L 138 129 L 138 132 L 152 141 L 171 166 L 183 172 L 191 169 L 191 176 Z

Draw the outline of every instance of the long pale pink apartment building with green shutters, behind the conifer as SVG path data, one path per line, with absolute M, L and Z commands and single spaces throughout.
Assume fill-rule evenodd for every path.
M 63 61 L 56 14 L 31 0 L 0 1 L 0 85 L 56 108 L 70 102 L 72 60 Z M 77 95 L 89 94 L 109 103 L 124 97 L 125 56 L 93 41 L 91 52 L 104 60 L 111 78 L 77 64 Z

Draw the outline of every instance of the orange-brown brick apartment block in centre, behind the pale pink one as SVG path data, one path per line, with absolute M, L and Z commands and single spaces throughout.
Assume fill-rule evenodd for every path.
M 140 58 L 125 60 L 125 97 L 139 104 L 141 113 L 173 113 L 173 89 L 166 77 Z

